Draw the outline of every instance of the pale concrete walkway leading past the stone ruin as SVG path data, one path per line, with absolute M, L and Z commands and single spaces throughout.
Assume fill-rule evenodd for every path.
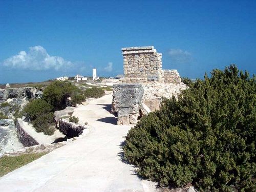
M 120 144 L 130 130 L 109 110 L 112 95 L 79 106 L 73 113 L 91 126 L 86 136 L 0 178 L 1 191 L 156 191 L 122 162 Z

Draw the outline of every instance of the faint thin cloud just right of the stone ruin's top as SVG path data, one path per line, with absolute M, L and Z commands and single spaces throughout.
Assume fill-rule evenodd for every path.
M 171 49 L 168 55 L 175 63 L 187 63 L 192 60 L 192 54 L 181 49 Z

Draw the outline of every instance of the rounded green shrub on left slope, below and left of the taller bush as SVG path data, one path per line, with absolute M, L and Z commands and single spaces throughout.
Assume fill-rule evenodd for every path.
M 35 99 L 25 106 L 24 113 L 33 121 L 40 115 L 48 114 L 52 110 L 53 106 L 44 99 Z

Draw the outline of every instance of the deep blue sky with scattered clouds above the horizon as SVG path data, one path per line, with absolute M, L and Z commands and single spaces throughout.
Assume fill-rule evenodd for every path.
M 3 1 L 0 83 L 115 76 L 121 48 L 154 46 L 163 69 L 256 74 L 256 1 Z

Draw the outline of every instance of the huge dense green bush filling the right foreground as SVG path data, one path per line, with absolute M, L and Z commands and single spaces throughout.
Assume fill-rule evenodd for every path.
M 125 159 L 160 185 L 255 191 L 255 94 L 255 76 L 214 70 L 142 117 L 126 136 Z

